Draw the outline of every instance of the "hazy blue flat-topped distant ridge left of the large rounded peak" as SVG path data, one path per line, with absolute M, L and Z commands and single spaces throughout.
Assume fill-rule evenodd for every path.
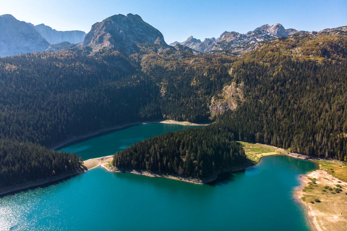
M 34 26 L 35 30 L 41 34 L 50 44 L 69 42 L 73 44 L 81 43 L 86 33 L 81 30 L 59 31 L 44 24 Z

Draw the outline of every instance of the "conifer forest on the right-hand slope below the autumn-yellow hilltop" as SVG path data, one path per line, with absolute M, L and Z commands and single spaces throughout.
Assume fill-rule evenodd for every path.
M 345 160 L 347 62 L 286 59 L 280 66 L 234 65 L 246 101 L 217 118 L 239 140 L 271 144 L 308 156 Z

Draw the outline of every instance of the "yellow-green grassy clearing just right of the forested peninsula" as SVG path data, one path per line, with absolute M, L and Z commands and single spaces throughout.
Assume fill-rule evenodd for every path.
M 288 154 L 288 151 L 276 148 L 274 146 L 259 144 L 259 143 L 246 143 L 242 141 L 237 141 L 240 145 L 245 149 L 245 153 L 248 159 L 253 161 L 254 163 L 259 162 L 261 157 L 264 156 L 272 156 L 277 154 Z

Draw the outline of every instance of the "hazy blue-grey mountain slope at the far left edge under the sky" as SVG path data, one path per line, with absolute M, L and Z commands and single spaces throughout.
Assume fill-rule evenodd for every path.
M 50 44 L 34 27 L 12 15 L 0 16 L 0 55 L 45 51 Z

